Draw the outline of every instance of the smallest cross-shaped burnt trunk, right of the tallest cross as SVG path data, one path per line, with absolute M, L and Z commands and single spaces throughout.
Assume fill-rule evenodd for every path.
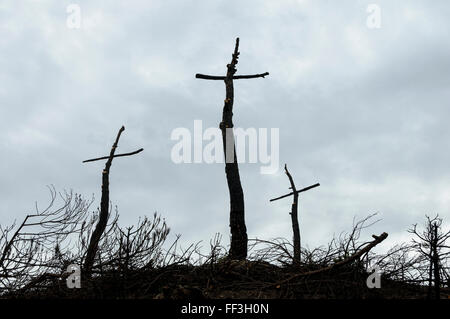
M 292 202 L 292 209 L 291 212 L 289 213 L 291 215 L 291 220 L 292 220 L 292 231 L 294 232 L 294 264 L 300 264 L 300 262 L 302 261 L 301 259 L 301 251 L 300 251 L 300 247 L 301 247 L 301 242 L 300 242 L 300 227 L 298 225 L 298 194 L 306 192 L 310 189 L 316 188 L 318 186 L 320 186 L 319 183 L 305 187 L 303 189 L 297 190 L 297 188 L 295 187 L 295 183 L 294 183 L 294 179 L 292 178 L 291 173 L 289 173 L 288 169 L 287 169 L 287 165 L 284 165 L 284 171 L 287 175 L 287 177 L 289 178 L 289 183 L 291 184 L 290 189 L 292 189 L 292 192 L 277 198 L 273 198 L 270 201 L 276 201 L 282 198 L 286 198 L 289 196 L 293 196 L 293 202 Z

